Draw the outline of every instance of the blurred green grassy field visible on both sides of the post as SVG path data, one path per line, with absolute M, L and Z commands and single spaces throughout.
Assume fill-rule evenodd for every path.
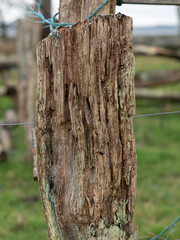
M 177 61 L 154 57 L 136 58 L 137 71 L 178 69 Z M 147 66 L 148 65 L 148 66 Z M 150 69 L 151 67 L 151 69 Z M 167 68 L 166 68 L 167 69 Z M 0 118 L 13 103 L 0 98 Z M 180 110 L 179 103 L 137 101 L 137 115 Z M 135 222 L 139 238 L 148 239 L 180 215 L 180 115 L 134 119 L 138 179 Z M 47 240 L 37 182 L 32 163 L 25 162 L 24 128 L 10 130 L 13 149 L 0 163 L 0 240 Z M 169 240 L 180 239 L 180 223 Z

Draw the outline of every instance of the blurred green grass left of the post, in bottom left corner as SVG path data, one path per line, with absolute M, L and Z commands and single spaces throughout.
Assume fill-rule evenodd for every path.
M 40 200 L 22 201 L 39 196 L 38 183 L 32 180 L 32 164 L 11 159 L 1 163 L 0 169 L 0 239 L 47 239 Z

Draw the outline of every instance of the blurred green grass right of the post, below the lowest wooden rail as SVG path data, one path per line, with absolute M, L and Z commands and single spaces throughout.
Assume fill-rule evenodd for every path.
M 179 104 L 137 101 L 137 115 L 178 110 Z M 180 216 L 180 115 L 134 119 L 139 236 L 158 234 Z M 169 239 L 180 237 L 180 223 Z M 144 238 L 145 239 L 145 238 Z

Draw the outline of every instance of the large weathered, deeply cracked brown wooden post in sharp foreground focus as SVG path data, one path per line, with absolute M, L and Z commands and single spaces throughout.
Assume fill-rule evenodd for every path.
M 38 44 L 38 175 L 50 239 L 137 239 L 132 28 L 130 17 L 98 16 Z

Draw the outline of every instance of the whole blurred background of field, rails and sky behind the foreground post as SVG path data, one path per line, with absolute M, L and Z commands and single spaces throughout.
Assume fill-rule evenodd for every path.
M 44 0 L 46 18 L 58 2 Z M 0 0 L 0 123 L 33 122 L 36 44 L 48 29 L 27 21 L 23 4 Z M 180 110 L 180 9 L 123 5 L 133 17 L 136 114 Z M 149 239 L 180 216 L 180 115 L 134 119 L 138 179 L 135 222 Z M 38 183 L 33 181 L 33 126 L 0 127 L 0 239 L 46 240 Z M 34 176 L 36 178 L 36 176 Z M 180 223 L 169 239 L 180 239 Z

